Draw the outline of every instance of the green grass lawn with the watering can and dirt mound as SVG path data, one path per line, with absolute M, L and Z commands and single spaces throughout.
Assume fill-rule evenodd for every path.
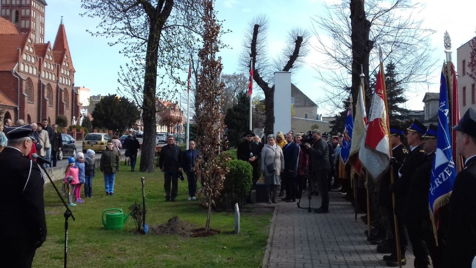
M 211 237 L 140 235 L 135 231 L 131 217 L 123 230 L 106 230 L 101 221 L 104 210 L 119 208 L 127 214 L 130 205 L 142 202 L 142 176 L 145 177 L 146 223 L 149 226 L 165 223 L 174 215 L 197 228 L 205 227 L 206 223 L 207 214 L 201 202 L 186 200 L 186 179 L 179 180 L 177 202 L 165 202 L 162 172 L 130 172 L 130 167 L 124 165 L 120 168 L 114 196 L 105 195 L 104 178 L 98 170 L 93 179 L 94 198 L 84 198 L 82 189 L 85 202 L 71 208 L 76 221 L 69 219 L 68 267 L 261 267 L 271 210 L 256 214 L 242 212 L 238 235 L 232 233 L 235 216 L 228 212 L 212 213 L 211 228 L 221 233 Z M 61 181 L 57 181 L 56 186 L 60 189 Z M 37 250 L 33 267 L 62 267 L 65 209 L 51 185 L 45 188 L 45 211 L 48 237 Z

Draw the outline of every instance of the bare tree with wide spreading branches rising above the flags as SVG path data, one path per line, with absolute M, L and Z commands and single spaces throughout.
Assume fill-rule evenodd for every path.
M 369 73 L 379 64 L 377 46 L 381 46 L 384 60 L 398 66 L 399 86 L 427 84 L 436 66 L 429 38 L 434 31 L 415 19 L 421 4 L 410 0 L 344 0 L 325 8 L 326 15 L 313 18 L 317 37 L 314 49 L 326 56 L 315 68 L 318 78 L 331 88 L 319 104 L 339 107 L 349 97 L 349 88 L 356 103 L 361 72 L 369 101 Z

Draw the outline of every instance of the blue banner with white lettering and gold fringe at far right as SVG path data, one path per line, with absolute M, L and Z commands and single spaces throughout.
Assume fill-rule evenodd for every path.
M 449 107 L 446 77 L 441 73 L 440 103 L 438 105 L 438 137 L 436 153 L 431 169 L 430 191 L 428 201 L 431 212 L 448 203 L 449 193 L 453 190 L 456 167 L 451 151 L 449 130 Z

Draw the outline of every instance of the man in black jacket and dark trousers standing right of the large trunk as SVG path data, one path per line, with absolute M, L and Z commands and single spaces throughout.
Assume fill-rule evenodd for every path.
M 180 146 L 175 145 L 173 135 L 167 137 L 167 145 L 162 147 L 159 168 L 164 172 L 165 201 L 175 202 L 179 188 L 179 172 L 182 171 L 182 153 Z M 172 192 L 170 184 L 172 182 Z

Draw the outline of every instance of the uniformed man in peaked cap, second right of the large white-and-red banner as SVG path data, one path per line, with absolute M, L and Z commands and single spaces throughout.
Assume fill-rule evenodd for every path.
M 413 124 L 407 128 L 407 130 L 407 141 L 408 145 L 410 146 L 410 152 L 408 157 L 403 162 L 402 167 L 399 169 L 399 178 L 394 182 L 393 185 L 391 185 L 392 191 L 395 192 L 395 215 L 397 216 L 399 224 L 403 224 L 405 222 L 405 214 L 403 213 L 403 210 L 405 204 L 407 203 L 407 195 L 410 190 L 410 182 L 412 180 L 413 173 L 415 172 L 416 168 L 419 167 L 423 161 L 425 161 L 425 151 L 423 150 L 422 136 L 426 133 L 426 127 L 415 119 Z M 405 235 L 400 234 L 400 238 L 403 237 L 405 237 Z M 409 238 L 411 242 L 411 234 L 409 234 Z M 403 248 L 406 242 L 406 239 L 404 239 L 404 241 L 400 241 L 402 265 L 407 263 L 407 259 L 405 258 L 406 248 Z M 420 265 L 420 261 L 421 260 L 415 259 L 415 267 Z M 387 265 L 395 266 L 395 263 L 397 263 L 396 259 L 393 263 L 391 261 L 387 262 Z M 396 266 L 398 266 L 398 264 Z

